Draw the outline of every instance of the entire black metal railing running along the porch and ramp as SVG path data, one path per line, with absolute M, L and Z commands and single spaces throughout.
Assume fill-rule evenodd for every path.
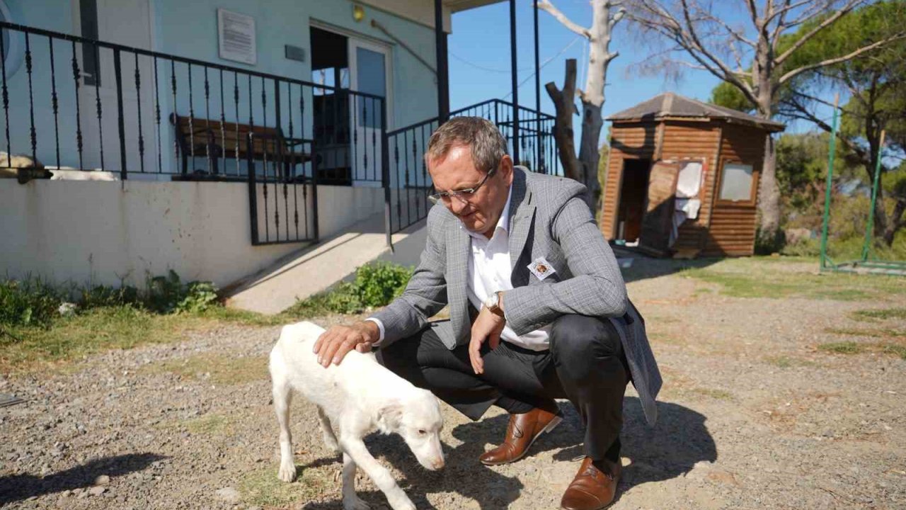
M 318 240 L 319 183 L 383 186 L 388 240 L 428 215 L 437 117 L 388 131 L 378 95 L 25 25 L 0 33 L 0 168 L 31 164 L 24 154 L 119 180 L 247 182 L 253 244 Z M 512 153 L 512 103 L 458 115 L 494 122 Z M 518 117 L 520 163 L 561 173 L 554 117 Z

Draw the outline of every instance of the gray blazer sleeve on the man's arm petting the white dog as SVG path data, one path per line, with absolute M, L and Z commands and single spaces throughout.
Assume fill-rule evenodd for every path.
M 371 317 L 384 327 L 381 347 L 414 335 L 428 325 L 428 319 L 447 305 L 446 245 L 443 242 L 442 211 L 431 208 L 428 215 L 428 240 L 419 265 L 412 273 L 402 295 Z

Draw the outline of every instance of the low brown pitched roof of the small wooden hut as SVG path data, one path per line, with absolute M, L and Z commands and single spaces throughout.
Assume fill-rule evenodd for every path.
M 728 123 L 754 125 L 769 132 L 784 131 L 786 129 L 786 126 L 782 123 L 766 121 L 748 113 L 724 108 L 717 104 L 702 103 L 675 93 L 661 93 L 622 112 L 613 113 L 607 120 L 618 122 L 656 121 L 665 117 L 721 119 Z

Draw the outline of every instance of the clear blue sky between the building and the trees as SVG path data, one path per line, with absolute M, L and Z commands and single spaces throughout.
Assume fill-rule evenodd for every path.
M 588 0 L 552 0 L 561 11 L 578 25 L 591 26 L 592 7 Z M 718 15 L 732 25 L 746 26 L 737 9 L 725 7 Z M 517 0 L 519 103 L 535 106 L 535 50 L 532 0 Z M 749 23 L 748 25 L 751 25 Z M 662 92 L 674 92 L 701 101 L 708 101 L 718 78 L 706 71 L 689 69 L 679 82 L 665 81 L 663 76 L 641 76 L 628 69 L 638 64 L 650 49 L 630 33 L 631 25 L 622 20 L 613 34 L 611 51 L 620 56 L 608 69 L 603 113 L 619 112 Z M 585 40 L 560 24 L 552 15 L 539 13 L 541 63 L 555 57 L 541 70 L 541 109 L 554 113 L 554 104 L 544 89 L 545 83 L 563 85 L 564 61 L 577 60 L 576 84 L 583 87 L 583 65 L 587 63 Z M 578 40 L 576 40 L 578 38 Z M 572 44 L 572 45 L 570 45 Z M 562 50 L 565 51 L 560 54 Z M 453 15 L 453 33 L 448 39 L 450 73 L 450 107 L 461 108 L 491 98 L 505 98 L 511 90 L 509 50 L 509 3 L 500 2 Z M 558 55 L 559 54 L 559 55 Z M 556 55 L 556 56 L 555 56 Z M 507 100 L 511 98 L 506 97 Z M 829 116 L 828 112 L 828 116 Z M 574 117 L 578 132 L 581 119 Z M 803 123 L 799 123 L 803 124 Z M 787 131 L 804 131 L 809 125 L 789 126 Z M 578 133 L 577 133 L 578 135 Z

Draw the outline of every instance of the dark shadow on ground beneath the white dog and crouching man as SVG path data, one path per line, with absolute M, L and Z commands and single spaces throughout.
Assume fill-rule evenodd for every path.
M 530 455 L 559 449 L 554 454 L 554 460 L 575 460 L 571 463 L 574 467 L 568 468 L 572 471 L 573 468 L 578 469 L 578 460 L 583 455 L 582 420 L 571 404 L 564 403 L 562 407 L 564 423 L 539 438 L 532 446 Z M 705 425 L 706 417 L 689 407 L 668 403 L 659 403 L 658 412 L 657 425 L 649 427 L 642 415 L 639 399 L 625 399 L 622 456 L 629 457 L 632 463 L 623 470 L 618 498 L 636 485 L 682 476 L 696 463 L 714 462 L 718 458 L 714 439 Z M 366 439 L 366 444 L 372 455 L 383 457 L 384 462 L 400 470 L 405 478 L 398 480 L 398 483 L 419 508 L 437 508 L 429 503 L 428 494 L 457 493 L 474 500 L 482 510 L 496 510 L 514 503 L 524 489 L 531 489 L 518 477 L 502 475 L 477 461 L 486 446 L 496 446 L 503 439 L 507 420 L 506 415 L 498 415 L 453 429 L 453 436 L 463 444 L 445 448 L 447 466 L 439 472 L 430 472 L 419 466 L 399 436 L 375 434 Z M 331 463 L 339 464 L 339 458 L 316 459 L 304 468 Z M 386 499 L 379 491 L 358 494 L 373 506 L 386 505 Z M 304 505 L 306 510 L 341 507 L 339 500 Z

